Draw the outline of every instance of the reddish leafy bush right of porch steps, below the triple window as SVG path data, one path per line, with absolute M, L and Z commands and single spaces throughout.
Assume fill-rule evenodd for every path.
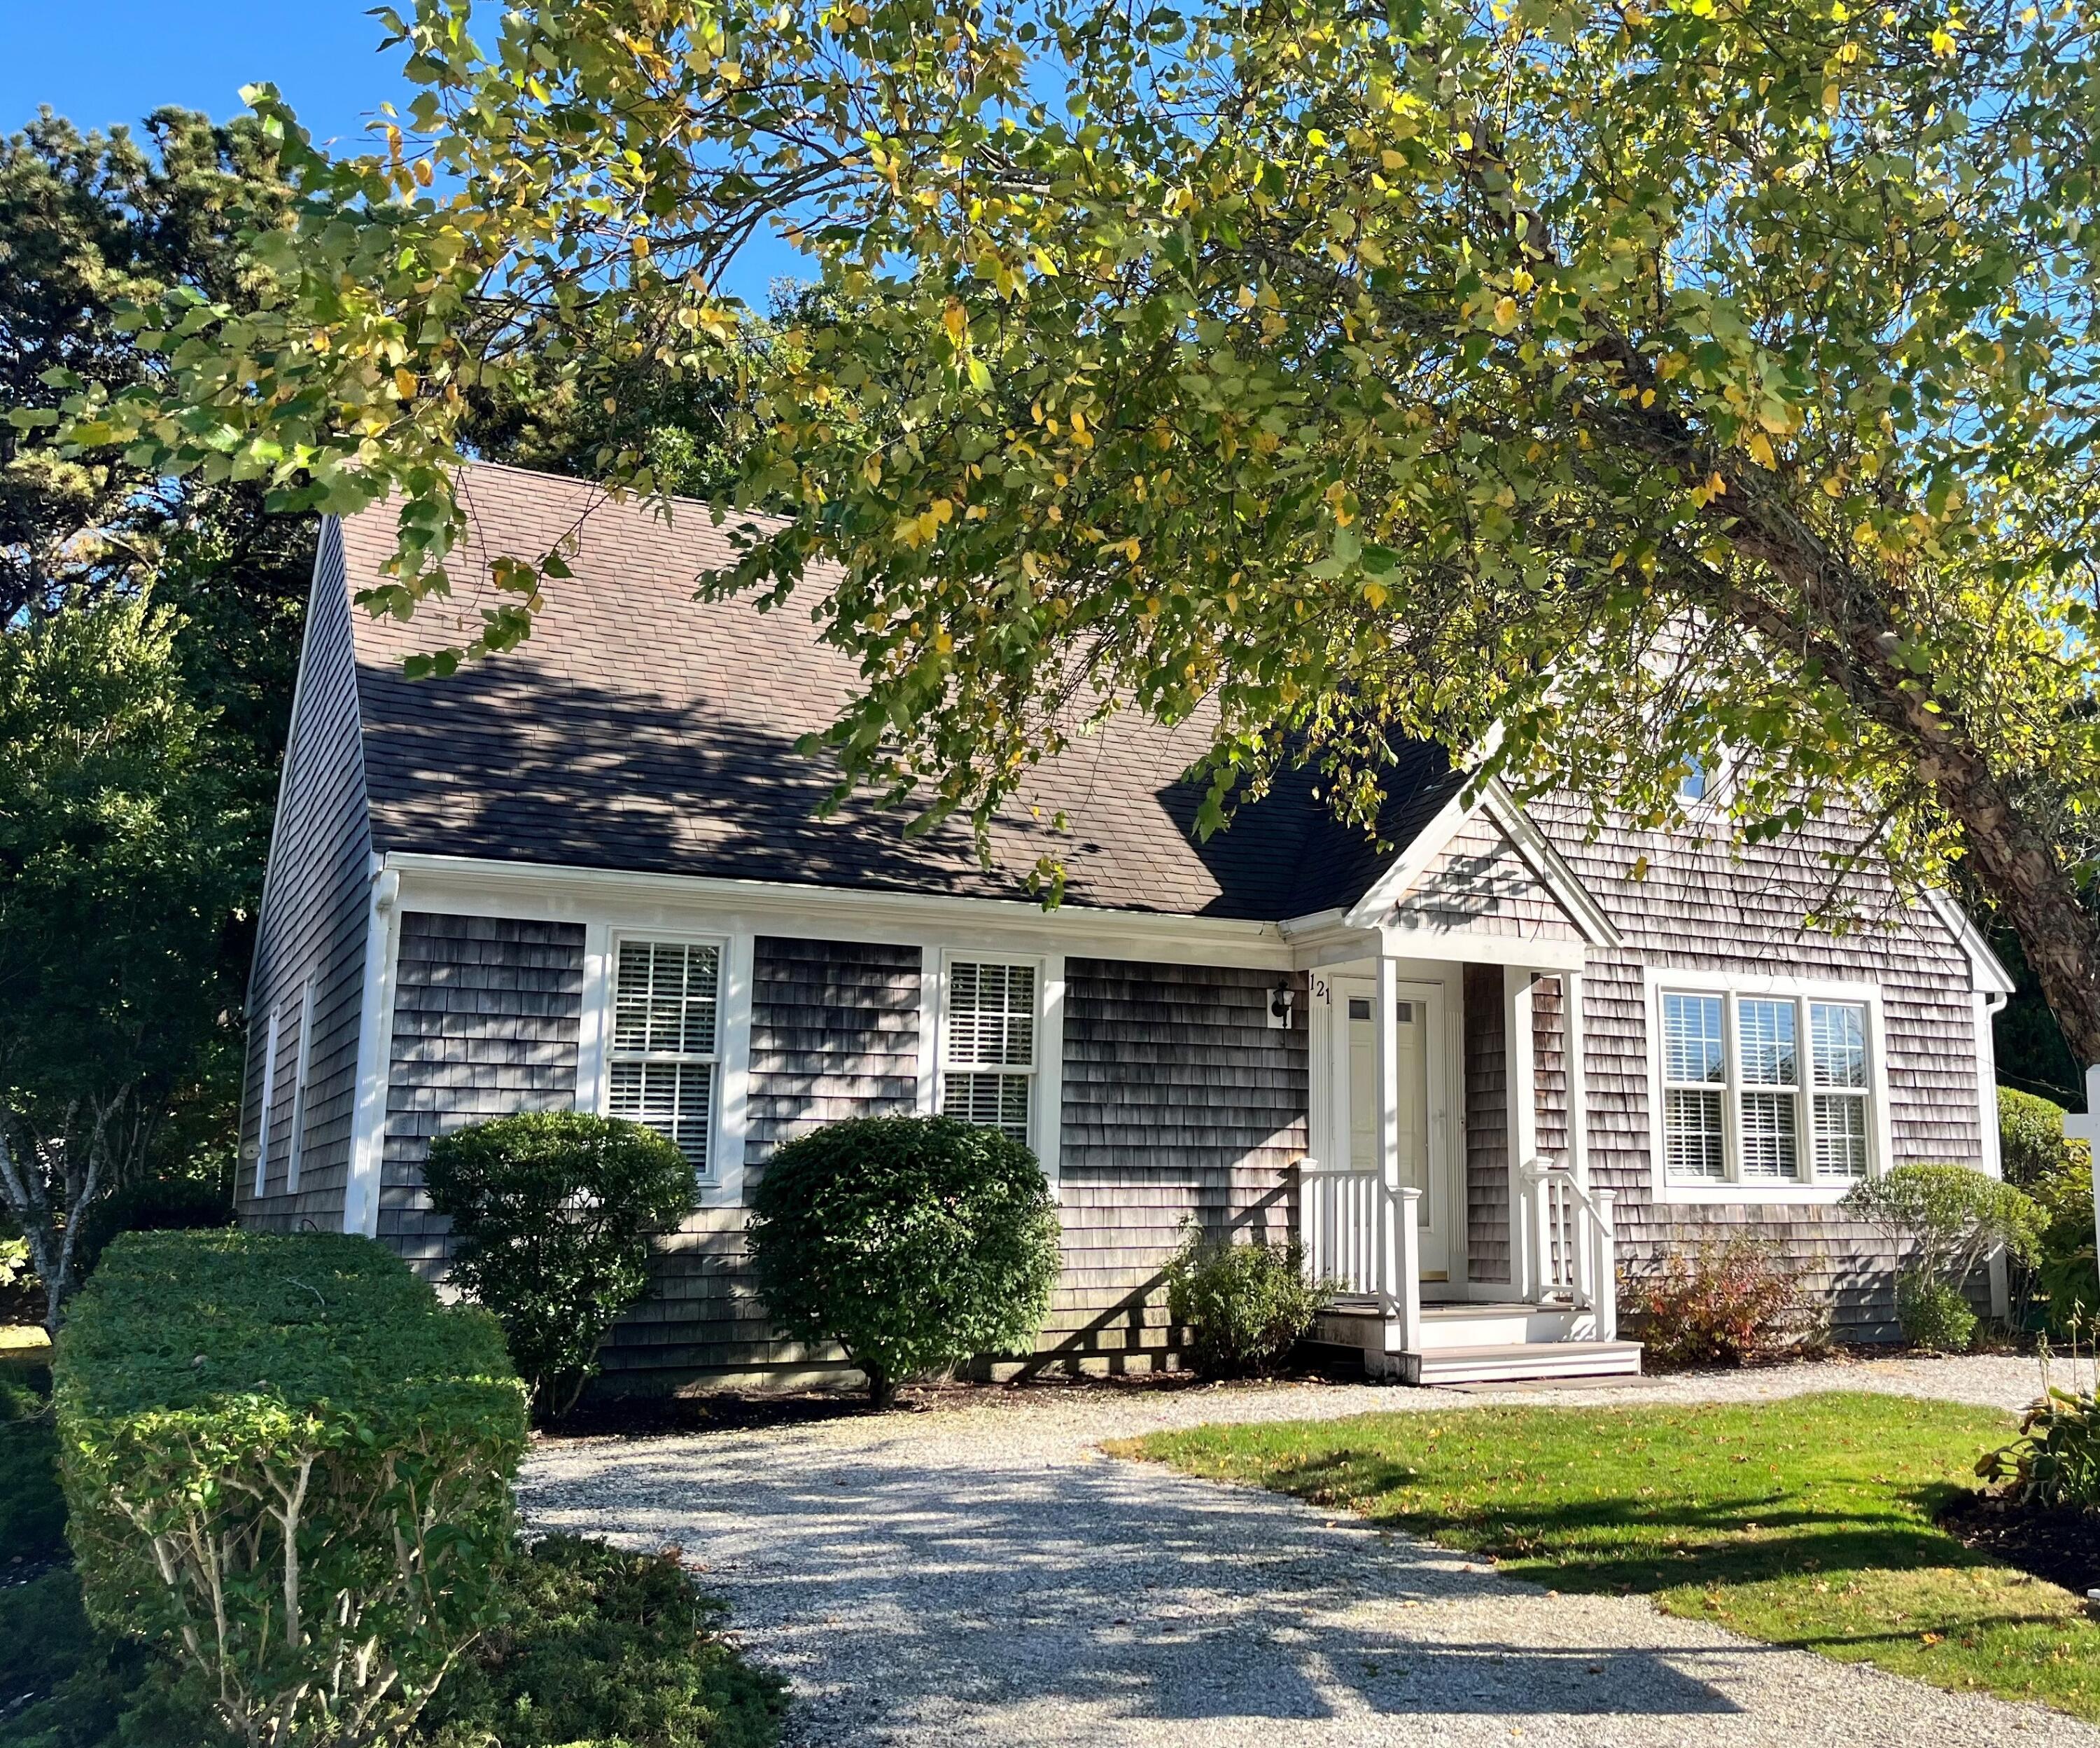
M 1619 1309 L 1655 1366 L 1751 1366 L 1798 1343 L 1802 1286 L 1774 1244 L 1730 1237 L 1630 1275 Z

